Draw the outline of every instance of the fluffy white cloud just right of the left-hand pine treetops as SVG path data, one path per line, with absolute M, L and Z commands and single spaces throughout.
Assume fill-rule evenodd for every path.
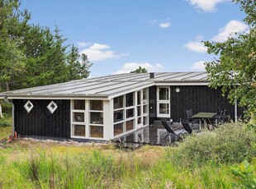
M 121 58 L 129 53 L 116 53 L 107 44 L 92 44 L 89 48 L 83 49 L 80 53 L 88 55 L 89 61 L 103 61 L 111 58 Z

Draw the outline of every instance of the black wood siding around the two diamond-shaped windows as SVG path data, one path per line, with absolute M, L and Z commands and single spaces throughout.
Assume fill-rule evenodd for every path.
M 70 137 L 70 100 L 55 99 L 58 108 L 50 113 L 49 99 L 30 99 L 34 108 L 30 113 L 23 107 L 27 99 L 15 99 L 14 127 L 17 134 L 26 136 Z

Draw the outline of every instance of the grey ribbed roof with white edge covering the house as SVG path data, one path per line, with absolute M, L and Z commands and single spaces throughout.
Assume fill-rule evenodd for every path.
M 45 85 L 24 90 L 13 90 L 0 94 L 9 99 L 53 99 L 53 98 L 97 98 L 111 99 L 152 85 L 207 85 L 206 72 L 158 72 L 154 78 L 149 73 L 126 73 L 111 76 L 69 81 L 55 85 Z

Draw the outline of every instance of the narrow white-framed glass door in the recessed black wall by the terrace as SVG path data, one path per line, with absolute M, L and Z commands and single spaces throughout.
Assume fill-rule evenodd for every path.
M 157 88 L 157 116 L 170 118 L 170 88 L 168 86 Z

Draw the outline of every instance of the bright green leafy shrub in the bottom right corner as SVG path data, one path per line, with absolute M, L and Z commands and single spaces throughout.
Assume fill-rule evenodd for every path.
M 232 166 L 231 170 L 238 179 L 238 183 L 233 183 L 233 187 L 248 189 L 256 188 L 256 173 L 254 166 L 249 164 L 247 160 L 244 160 L 239 165 Z

